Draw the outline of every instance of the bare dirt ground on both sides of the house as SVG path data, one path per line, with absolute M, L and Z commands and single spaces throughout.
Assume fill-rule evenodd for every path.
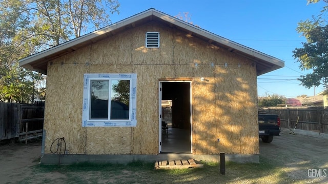
M 31 166 L 40 158 L 41 142 L 0 145 L 0 183 L 16 183 L 31 176 Z M 284 172 L 296 180 L 311 183 L 328 183 L 328 139 L 292 135 L 282 130 L 270 144 L 260 140 L 260 156 L 284 166 Z M 326 169 L 326 177 L 311 178 L 316 171 Z M 48 178 L 63 177 L 60 173 L 48 173 Z M 65 176 L 64 176 L 65 177 Z M 40 179 L 40 178 L 39 178 Z M 309 180 L 310 179 L 310 180 Z

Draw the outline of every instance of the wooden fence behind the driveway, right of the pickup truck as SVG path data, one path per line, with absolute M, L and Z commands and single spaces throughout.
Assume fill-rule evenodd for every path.
M 278 114 L 283 128 L 328 133 L 328 109 L 324 107 L 269 107 L 262 112 Z

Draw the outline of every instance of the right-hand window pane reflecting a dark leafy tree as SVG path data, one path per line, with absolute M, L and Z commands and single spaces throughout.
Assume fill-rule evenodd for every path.
M 110 119 L 129 119 L 130 80 L 111 80 L 111 82 Z

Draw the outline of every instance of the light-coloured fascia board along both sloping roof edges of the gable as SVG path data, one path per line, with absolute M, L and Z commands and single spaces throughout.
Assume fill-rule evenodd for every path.
M 93 32 L 88 33 L 86 35 L 83 35 L 83 36 L 77 37 L 75 39 L 69 40 L 68 42 L 65 42 L 63 44 L 60 44 L 58 46 L 52 47 L 50 49 L 44 50 L 42 52 L 38 52 L 36 54 L 30 55 L 30 56 L 25 57 L 23 59 L 20 59 L 19 60 L 19 66 L 27 65 L 27 64 L 33 62 L 34 60 L 44 58 L 47 55 L 51 55 L 51 54 L 54 54 L 56 52 L 69 49 L 69 48 L 71 48 L 71 47 L 73 47 L 73 46 L 75 46 L 77 44 L 80 44 L 80 43 L 83 43 L 83 42 L 87 42 L 88 40 L 90 40 L 92 38 L 95 38 L 98 35 L 106 34 L 108 32 L 111 32 L 111 31 L 113 31 L 115 29 L 118 29 L 120 27 L 124 27 L 126 25 L 129 25 L 129 24 L 131 24 L 133 22 L 138 21 L 139 19 L 148 17 L 150 15 L 154 15 L 154 16 L 162 19 L 163 21 L 172 23 L 173 25 L 176 25 L 178 27 L 181 27 L 181 28 L 186 29 L 188 31 L 191 31 L 193 33 L 202 35 L 204 37 L 207 37 L 207 38 L 209 38 L 209 39 L 211 39 L 211 40 L 213 40 L 213 41 L 215 41 L 217 43 L 220 43 L 222 45 L 226 45 L 226 46 L 228 46 L 230 48 L 233 48 L 235 50 L 238 50 L 240 52 L 243 52 L 243 53 L 252 55 L 254 57 L 257 57 L 259 59 L 265 60 L 265 61 L 267 61 L 269 63 L 274 64 L 274 65 L 277 65 L 279 67 L 284 67 L 284 62 L 282 60 L 280 60 L 280 59 L 277 59 L 277 58 L 272 57 L 270 55 L 267 55 L 267 54 L 261 53 L 259 51 L 256 51 L 254 49 L 251 49 L 251 48 L 242 46 L 240 44 L 237 44 L 235 42 L 232 42 L 229 39 L 223 38 L 221 36 L 218 36 L 216 34 L 213 34 L 213 33 L 209 32 L 209 31 L 206 31 L 204 29 L 201 29 L 201 28 L 198 28 L 196 26 L 193 26 L 193 25 L 191 25 L 189 23 L 183 22 L 183 21 L 181 21 L 178 18 L 174 18 L 174 17 L 172 17 L 170 15 L 167 15 L 167 14 L 162 13 L 160 11 L 157 11 L 155 9 L 149 9 L 149 10 L 147 10 L 145 12 L 142 12 L 142 13 L 136 14 L 134 16 L 131 16 L 129 18 L 123 19 L 122 21 L 119 21 L 117 23 L 114 23 L 114 24 L 112 24 L 110 26 L 101 28 L 99 30 L 93 31 Z

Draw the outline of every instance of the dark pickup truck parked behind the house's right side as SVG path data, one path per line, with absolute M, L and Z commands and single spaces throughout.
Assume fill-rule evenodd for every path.
M 280 133 L 279 116 L 276 114 L 259 114 L 258 130 L 263 142 L 272 142 L 273 136 L 278 136 Z

